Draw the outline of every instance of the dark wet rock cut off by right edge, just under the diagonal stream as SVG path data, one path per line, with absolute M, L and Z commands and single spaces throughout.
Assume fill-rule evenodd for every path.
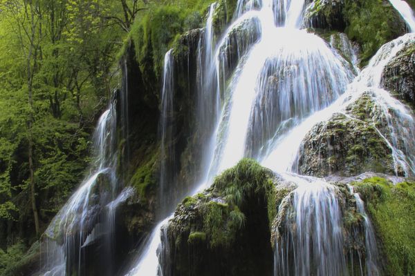
M 403 50 L 385 67 L 382 86 L 415 107 L 415 43 Z

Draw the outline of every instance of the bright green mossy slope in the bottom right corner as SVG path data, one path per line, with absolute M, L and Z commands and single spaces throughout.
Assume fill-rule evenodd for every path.
M 394 186 L 386 179 L 372 177 L 355 185 L 382 242 L 386 275 L 414 275 L 415 183 Z

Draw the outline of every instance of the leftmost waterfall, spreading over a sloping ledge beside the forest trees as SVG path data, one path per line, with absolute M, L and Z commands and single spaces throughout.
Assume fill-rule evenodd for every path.
M 117 205 L 117 202 L 111 203 L 116 190 L 115 128 L 116 109 L 111 104 L 100 117 L 93 135 L 95 161 L 89 177 L 59 210 L 44 233 L 47 251 L 44 275 L 66 275 L 70 271 L 84 274 L 84 248 L 95 239 L 113 232 L 113 209 Z M 100 208 L 107 209 L 107 217 L 100 218 Z M 111 246 L 111 242 L 105 244 Z M 107 251 L 105 254 L 111 253 Z M 108 271 L 111 273 L 110 267 Z

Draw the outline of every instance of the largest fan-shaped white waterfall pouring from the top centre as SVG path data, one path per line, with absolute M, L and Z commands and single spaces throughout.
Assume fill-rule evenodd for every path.
M 215 173 L 244 156 L 263 159 L 273 148 L 278 130 L 328 106 L 353 79 L 347 62 L 320 37 L 295 28 L 302 21 L 304 1 L 293 1 L 293 6 L 284 1 L 284 5 L 284 28 L 274 24 L 272 1 L 263 1 L 261 10 L 242 15 L 259 19 L 261 39 L 231 79 L 216 137 L 213 163 L 217 167 L 210 168 Z

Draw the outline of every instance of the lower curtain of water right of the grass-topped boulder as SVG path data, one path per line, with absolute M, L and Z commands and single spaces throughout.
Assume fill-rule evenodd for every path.
M 284 235 L 277 239 L 274 275 L 347 275 L 342 210 L 333 185 L 296 179 L 298 188 L 280 210 Z M 282 208 L 284 209 L 284 208 Z

